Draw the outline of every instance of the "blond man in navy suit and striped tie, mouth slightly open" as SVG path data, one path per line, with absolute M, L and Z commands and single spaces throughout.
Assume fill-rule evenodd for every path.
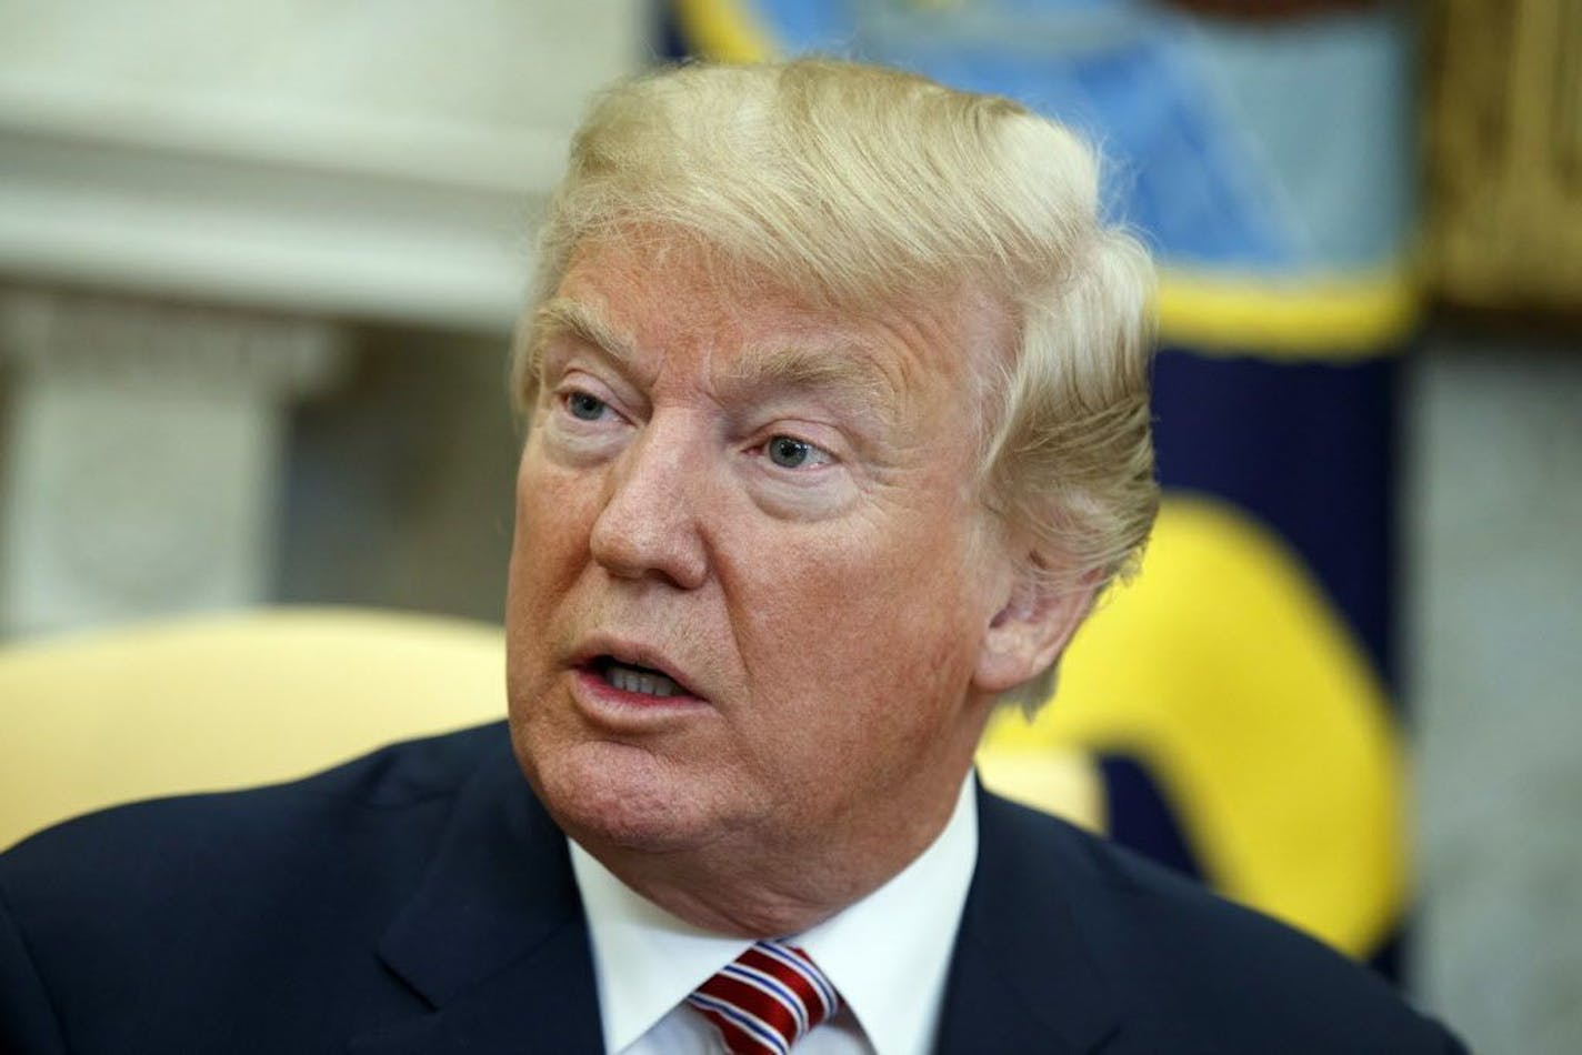
M 1092 157 L 1009 101 L 617 87 L 516 350 L 509 748 L 25 843 L 6 1050 L 1459 1050 L 975 786 L 1147 535 L 1147 291 Z

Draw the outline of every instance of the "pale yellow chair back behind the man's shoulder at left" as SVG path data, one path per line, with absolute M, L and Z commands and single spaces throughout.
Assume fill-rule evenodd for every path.
M 266 609 L 16 644 L 0 649 L 0 848 L 503 715 L 503 634 L 462 620 Z

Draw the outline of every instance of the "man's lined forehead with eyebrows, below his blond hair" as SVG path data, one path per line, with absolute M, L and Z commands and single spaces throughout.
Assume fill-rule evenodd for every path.
M 930 381 L 978 395 L 981 367 L 1009 346 L 1006 313 L 968 288 L 837 305 L 664 237 L 584 242 L 533 323 L 538 356 L 570 335 L 639 375 L 685 357 L 720 381 L 843 384 L 897 402 Z

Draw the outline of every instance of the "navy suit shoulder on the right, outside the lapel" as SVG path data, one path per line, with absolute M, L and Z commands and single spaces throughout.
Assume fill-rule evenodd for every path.
M 1074 925 L 1125 1001 L 1196 1030 L 1204 1050 L 1459 1052 L 1368 968 L 1101 837 L 1011 804 L 1033 868 L 1058 883 Z

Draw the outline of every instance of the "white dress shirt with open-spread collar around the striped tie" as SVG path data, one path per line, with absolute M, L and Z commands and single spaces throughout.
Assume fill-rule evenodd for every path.
M 842 1009 L 796 1055 L 922 1055 L 944 1000 L 951 949 L 978 860 L 968 773 L 938 838 L 895 878 L 824 922 L 791 935 L 840 990 Z M 715 935 L 633 892 L 571 843 L 587 911 L 604 1050 L 619 1055 L 718 1052 L 709 1022 L 682 1001 L 751 941 Z

